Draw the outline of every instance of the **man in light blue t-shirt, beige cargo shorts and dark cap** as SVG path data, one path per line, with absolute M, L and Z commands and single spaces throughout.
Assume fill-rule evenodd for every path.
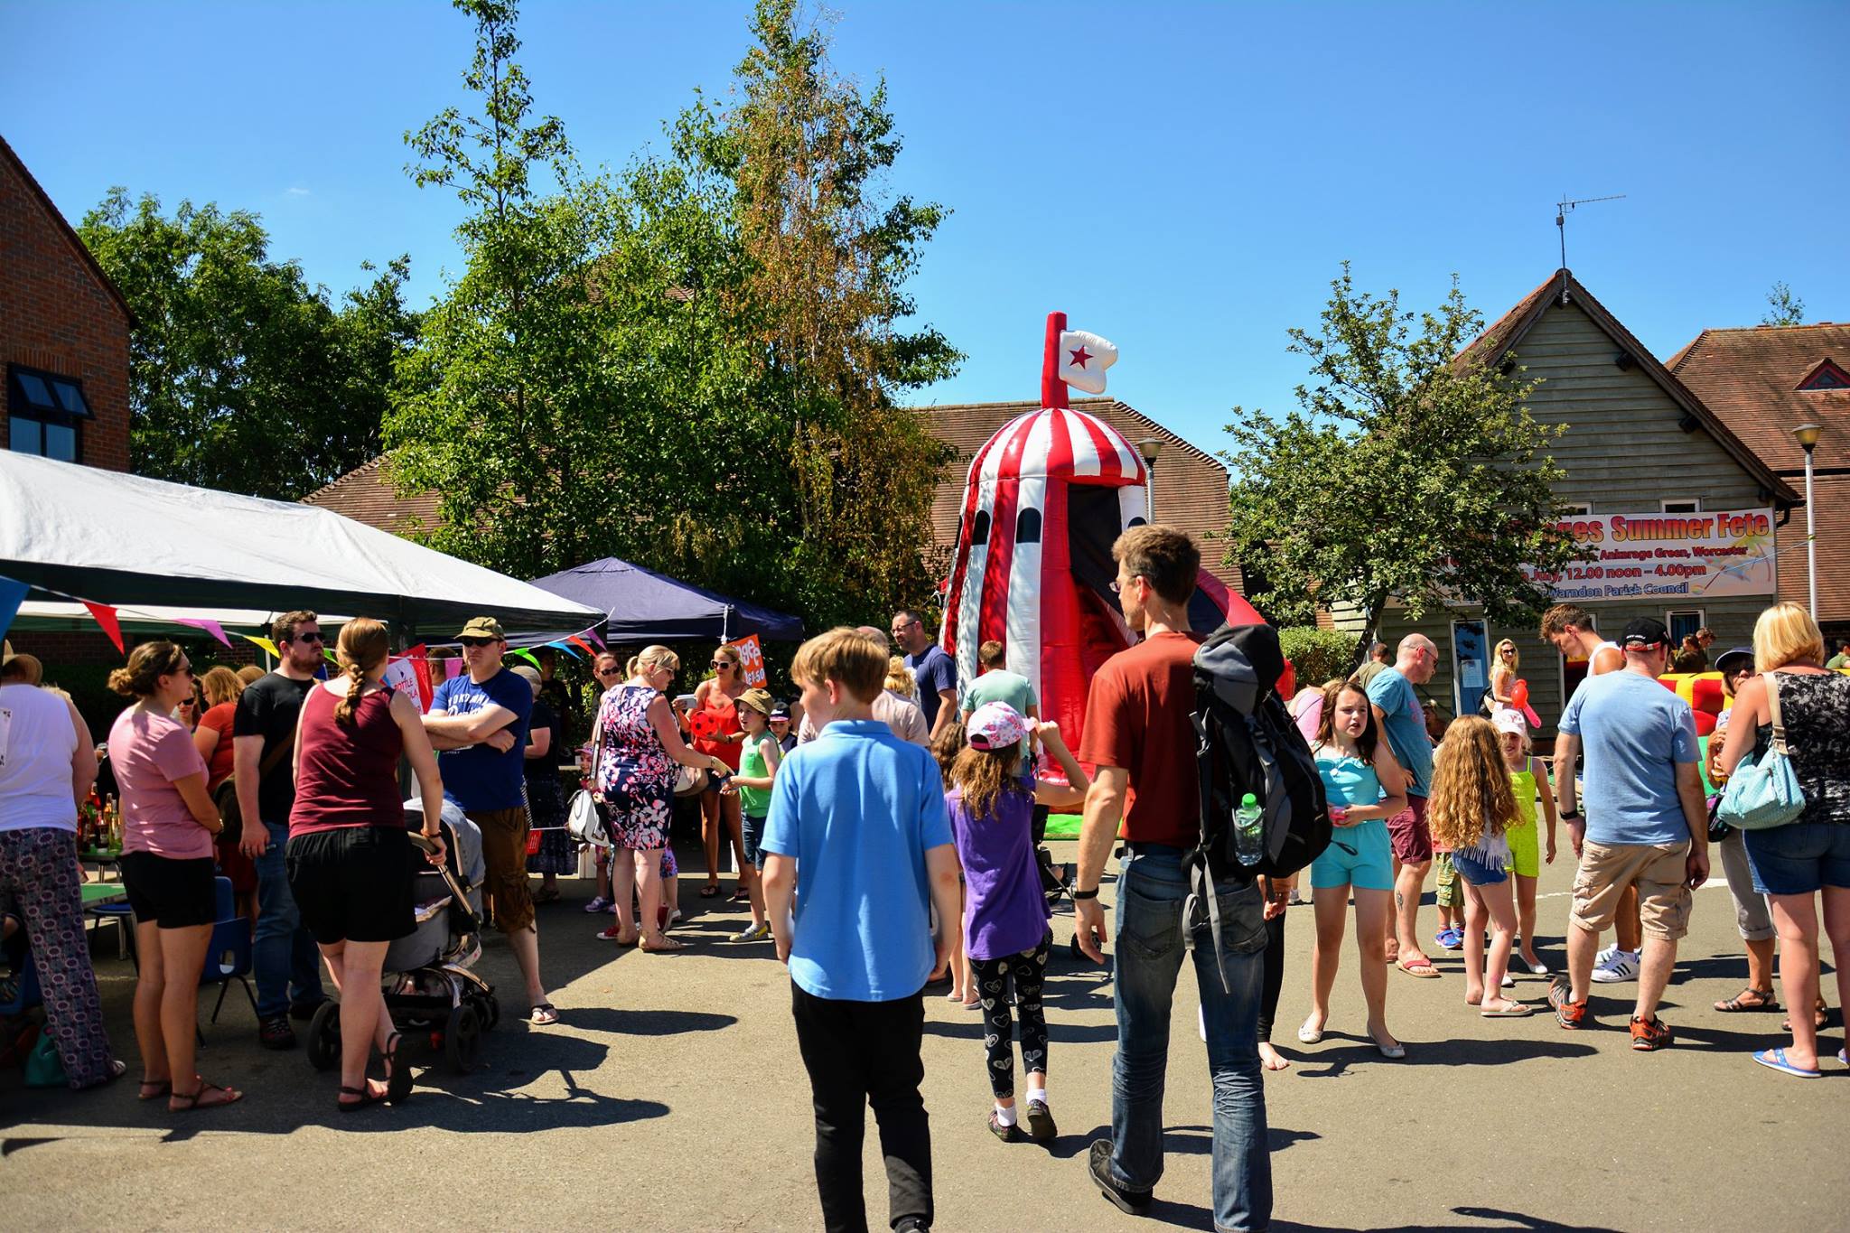
M 1624 671 L 1587 677 L 1561 712 L 1554 743 L 1556 795 L 1580 858 L 1567 930 L 1567 976 L 1548 1004 L 1563 1028 L 1587 1022 L 1587 989 L 1600 932 L 1613 924 L 1619 897 L 1637 889 L 1643 956 L 1632 1048 L 1659 1050 L 1671 1030 L 1658 1000 L 1689 932 L 1691 891 L 1709 876 L 1709 824 L 1696 767 L 1696 719 L 1689 702 L 1658 677 L 1671 632 L 1654 617 L 1624 627 Z M 1576 808 L 1574 758 L 1585 749 L 1587 815 Z

